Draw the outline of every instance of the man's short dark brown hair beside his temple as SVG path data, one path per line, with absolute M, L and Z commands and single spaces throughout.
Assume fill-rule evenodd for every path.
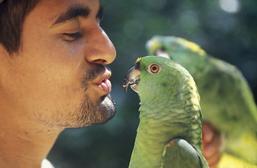
M 26 15 L 41 0 L 4 0 L 0 3 L 0 43 L 9 54 L 22 47 L 22 26 Z

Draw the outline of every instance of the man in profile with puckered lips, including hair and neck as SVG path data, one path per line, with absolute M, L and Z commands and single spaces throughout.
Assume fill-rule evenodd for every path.
M 41 167 L 59 133 L 115 114 L 98 0 L 0 3 L 0 166 Z

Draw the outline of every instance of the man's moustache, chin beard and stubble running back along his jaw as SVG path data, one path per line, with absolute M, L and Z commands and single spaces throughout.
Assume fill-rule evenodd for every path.
M 81 100 L 80 106 L 74 108 L 74 111 L 68 111 L 66 115 L 53 113 L 50 116 L 51 119 L 48 118 L 49 120 L 38 118 L 39 123 L 44 123 L 49 127 L 61 127 L 65 129 L 89 127 L 108 122 L 116 113 L 116 104 L 110 94 L 102 96 L 99 102 L 92 102 L 89 94 L 87 94 L 90 81 L 102 74 L 106 68 L 106 66 L 96 65 L 82 76 L 80 83 L 85 96 Z

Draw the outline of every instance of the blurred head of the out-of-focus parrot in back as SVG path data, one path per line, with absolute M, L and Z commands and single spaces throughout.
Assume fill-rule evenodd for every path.
M 193 72 L 206 53 L 199 45 L 175 36 L 154 36 L 146 43 L 149 55 L 167 57 Z

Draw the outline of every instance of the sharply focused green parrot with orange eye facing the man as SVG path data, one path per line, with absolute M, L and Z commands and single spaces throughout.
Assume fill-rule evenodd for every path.
M 130 168 L 208 167 L 202 151 L 200 97 L 192 76 L 170 59 L 137 59 L 124 78 L 140 97 Z

